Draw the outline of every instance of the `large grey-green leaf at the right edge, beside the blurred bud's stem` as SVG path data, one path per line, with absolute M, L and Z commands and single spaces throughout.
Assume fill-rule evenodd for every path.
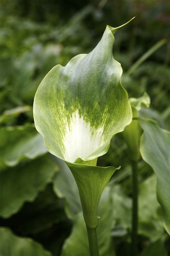
M 150 119 L 140 119 L 144 131 L 140 151 L 143 160 L 151 165 L 157 176 L 157 199 L 165 216 L 165 228 L 170 234 L 170 133 Z

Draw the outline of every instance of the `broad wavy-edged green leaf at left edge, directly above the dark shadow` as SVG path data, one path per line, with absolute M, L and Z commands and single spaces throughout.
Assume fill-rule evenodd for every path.
M 27 162 L 0 173 L 0 216 L 16 213 L 25 201 L 33 201 L 56 172 L 47 158 Z

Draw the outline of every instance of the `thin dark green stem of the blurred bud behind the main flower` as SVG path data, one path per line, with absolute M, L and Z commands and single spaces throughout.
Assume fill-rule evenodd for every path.
M 138 231 L 138 168 L 137 161 L 132 160 L 132 256 L 137 256 L 137 231 Z

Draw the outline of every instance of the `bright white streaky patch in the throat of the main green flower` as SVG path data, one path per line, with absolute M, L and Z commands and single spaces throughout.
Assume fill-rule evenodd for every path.
M 103 127 L 93 130 L 93 134 L 92 129 L 78 111 L 72 114 L 70 126 L 66 124 L 63 142 L 67 162 L 74 163 L 79 157 L 85 159 L 103 145 Z

